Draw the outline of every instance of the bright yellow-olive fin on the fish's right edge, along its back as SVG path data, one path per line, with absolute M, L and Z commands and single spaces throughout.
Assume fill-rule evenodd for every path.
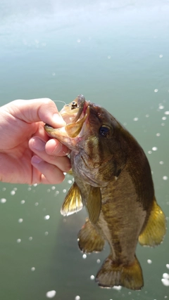
M 142 244 L 142 246 L 156 246 L 163 241 L 165 232 L 165 215 L 163 214 L 161 207 L 159 207 L 156 203 L 156 199 L 154 197 L 153 207 L 149 216 L 149 220 L 143 232 L 141 233 L 141 235 L 139 235 L 139 243 Z

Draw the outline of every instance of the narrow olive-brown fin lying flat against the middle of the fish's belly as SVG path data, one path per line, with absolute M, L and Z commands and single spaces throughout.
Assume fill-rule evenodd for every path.
M 101 211 L 101 191 L 100 188 L 95 188 L 92 185 L 90 185 L 89 197 L 87 198 L 87 211 L 90 221 L 95 224 Z

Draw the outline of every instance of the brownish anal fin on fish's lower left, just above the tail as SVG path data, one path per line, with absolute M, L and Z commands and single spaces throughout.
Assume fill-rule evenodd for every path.
M 100 252 L 104 249 L 104 237 L 99 235 L 89 219 L 87 219 L 78 233 L 78 239 L 78 244 L 82 252 Z

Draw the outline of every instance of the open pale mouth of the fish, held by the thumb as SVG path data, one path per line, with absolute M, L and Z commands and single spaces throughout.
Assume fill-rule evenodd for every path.
M 76 138 L 82 131 L 82 126 L 89 116 L 89 105 L 84 96 L 79 95 L 72 103 L 65 105 L 59 113 L 66 125 L 55 129 L 49 124 L 45 124 L 44 129 L 49 136 L 58 138 L 59 141 L 68 145 L 70 138 Z

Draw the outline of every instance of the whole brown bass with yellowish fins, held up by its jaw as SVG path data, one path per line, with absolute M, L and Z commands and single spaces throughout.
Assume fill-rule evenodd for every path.
M 136 139 L 104 107 L 79 95 L 60 111 L 66 125 L 44 125 L 51 138 L 70 148 L 74 183 L 61 214 L 87 208 L 89 217 L 78 233 L 84 253 L 110 254 L 98 273 L 100 287 L 144 286 L 137 243 L 154 247 L 165 236 L 165 214 L 156 202 L 151 168 Z

